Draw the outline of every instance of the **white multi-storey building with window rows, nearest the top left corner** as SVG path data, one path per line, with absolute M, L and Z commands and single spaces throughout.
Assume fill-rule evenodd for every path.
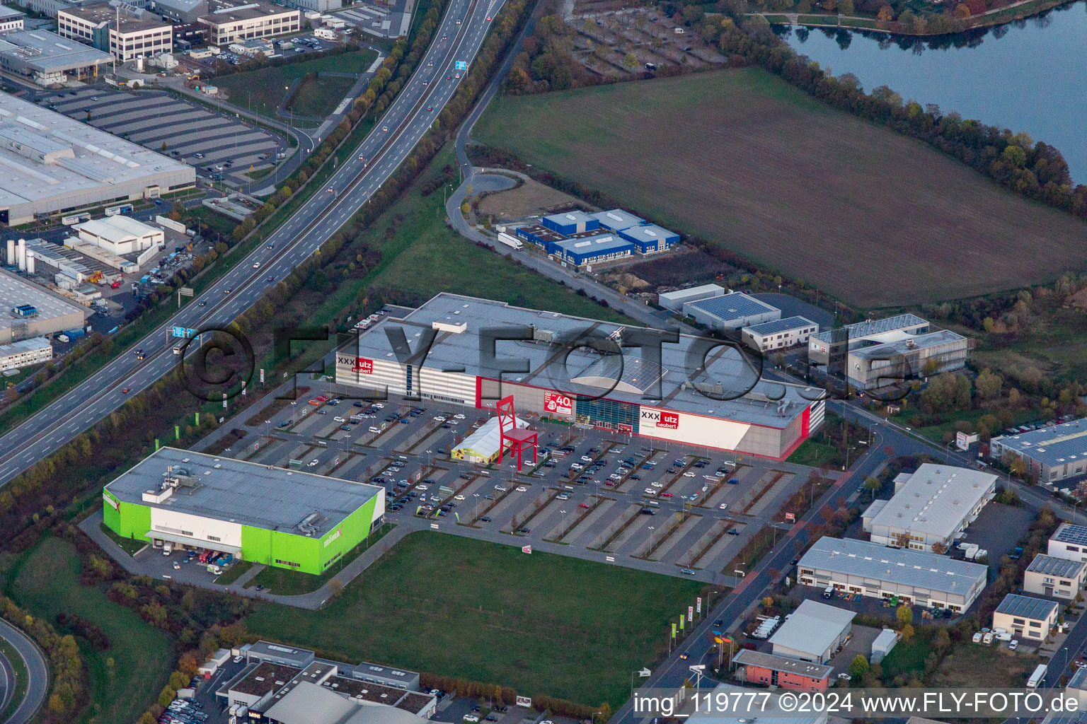
M 134 5 L 99 2 L 61 10 L 57 31 L 111 53 L 122 63 L 174 52 L 171 23 Z

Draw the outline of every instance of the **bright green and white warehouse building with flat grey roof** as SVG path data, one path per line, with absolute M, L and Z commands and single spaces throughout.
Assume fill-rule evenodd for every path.
M 385 516 L 385 488 L 164 447 L 102 490 L 126 538 L 321 573 Z

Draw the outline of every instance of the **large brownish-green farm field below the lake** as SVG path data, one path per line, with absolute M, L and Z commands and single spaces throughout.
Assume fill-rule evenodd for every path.
M 1083 221 L 758 68 L 500 97 L 474 136 L 862 307 L 1084 267 Z

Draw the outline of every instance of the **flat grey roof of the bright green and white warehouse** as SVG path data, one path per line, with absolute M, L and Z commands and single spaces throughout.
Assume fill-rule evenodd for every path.
M 162 503 L 147 503 L 146 491 L 160 490 L 167 468 L 183 482 Z M 105 486 L 118 500 L 148 508 L 179 510 L 193 516 L 253 528 L 304 535 L 299 522 L 313 512 L 314 537 L 321 537 L 345 518 L 383 494 L 383 487 L 300 470 L 163 447 L 143 458 Z

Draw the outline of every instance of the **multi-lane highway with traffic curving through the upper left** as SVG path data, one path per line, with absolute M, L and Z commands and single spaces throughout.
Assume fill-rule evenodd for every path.
M 77 388 L 0 437 L 0 485 L 43 459 L 148 388 L 177 364 L 172 327 L 225 327 L 255 303 L 335 233 L 384 183 L 423 137 L 464 75 L 457 62 L 471 63 L 486 37 L 488 18 L 503 0 L 450 0 L 425 56 L 392 105 L 327 182 L 264 244 L 237 264 L 198 299 L 134 348 L 143 361 L 125 354 Z M 364 160 L 364 161 L 363 161 Z M 229 290 L 229 291 L 228 291 Z M 192 345 L 196 346 L 196 345 Z M 126 394 L 124 390 L 129 392 Z

